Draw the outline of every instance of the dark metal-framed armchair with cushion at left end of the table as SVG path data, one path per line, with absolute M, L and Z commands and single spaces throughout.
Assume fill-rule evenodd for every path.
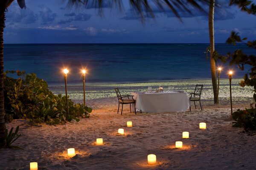
M 129 95 L 129 94 L 121 95 L 118 88 L 115 88 L 115 91 L 116 91 L 116 95 L 117 95 L 117 98 L 118 98 L 118 111 L 117 111 L 117 114 L 119 113 L 119 106 L 120 106 L 120 104 L 122 104 L 122 108 L 123 108 L 123 105 L 130 104 L 130 112 L 131 112 L 131 104 L 132 103 L 134 103 L 134 110 L 135 110 L 135 114 L 136 114 L 136 108 L 135 108 L 136 100 L 134 100 L 134 98 L 133 98 L 134 96 Z M 122 110 L 121 110 L 121 115 L 122 115 Z

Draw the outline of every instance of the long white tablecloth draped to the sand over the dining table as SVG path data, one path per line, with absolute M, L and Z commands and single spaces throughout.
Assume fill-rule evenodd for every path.
M 187 93 L 135 93 L 131 95 L 136 99 L 136 109 L 143 112 L 183 112 L 189 109 L 190 102 Z

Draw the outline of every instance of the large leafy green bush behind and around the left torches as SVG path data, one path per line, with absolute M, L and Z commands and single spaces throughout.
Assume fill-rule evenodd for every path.
M 17 73 L 18 78 L 6 76 Z M 79 116 L 89 117 L 91 108 L 83 104 L 74 104 L 68 99 L 70 115 L 67 114 L 66 96 L 55 95 L 47 88 L 47 82 L 34 73 L 24 71 L 6 71 L 4 74 L 4 106 L 6 122 L 12 119 L 31 119 L 34 123 L 46 122 L 49 125 L 64 124 L 76 120 Z

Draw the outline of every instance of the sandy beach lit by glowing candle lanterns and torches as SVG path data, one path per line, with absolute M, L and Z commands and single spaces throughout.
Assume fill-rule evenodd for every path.
M 241 88 L 234 80 L 233 111 L 250 107 L 250 88 Z M 14 120 L 6 127 L 20 125 L 21 137 L 15 145 L 24 150 L 1 149 L 3 170 L 29 169 L 29 162 L 38 162 L 39 170 L 249 170 L 255 169 L 256 135 L 245 133 L 242 128 L 232 127 L 228 80 L 221 80 L 220 104 L 212 104 L 210 80 L 163 82 L 176 89 L 191 92 L 195 84 L 203 82 L 203 111 L 183 113 L 134 113 L 124 107 L 123 115 L 117 113 L 117 99 L 113 87 L 119 87 L 124 94 L 131 91 L 146 91 L 146 87 L 159 83 L 123 85 L 99 85 L 87 87 L 87 105 L 93 108 L 89 119 L 68 122 L 65 125 L 30 126 L 27 120 Z M 62 87 L 63 88 L 63 87 Z M 52 87 L 55 93 L 63 91 Z M 77 87 L 69 87 L 70 97 L 81 102 Z M 77 91 L 75 93 L 74 91 Z M 103 97 L 92 97 L 101 91 Z M 79 95 L 78 95 L 79 94 Z M 109 95 L 105 97 L 105 95 Z M 74 97 L 76 96 L 76 97 Z M 98 94 L 99 96 L 99 94 Z M 133 127 L 126 127 L 132 121 Z M 199 129 L 199 123 L 206 122 L 207 129 Z M 123 128 L 124 135 L 117 130 Z M 182 139 L 182 132 L 189 131 L 189 139 Z M 96 138 L 103 138 L 104 144 L 95 144 Z M 175 142 L 182 141 L 183 148 L 175 148 Z M 75 148 L 76 156 L 67 157 L 67 148 Z M 155 154 L 157 164 L 148 165 L 147 155 Z

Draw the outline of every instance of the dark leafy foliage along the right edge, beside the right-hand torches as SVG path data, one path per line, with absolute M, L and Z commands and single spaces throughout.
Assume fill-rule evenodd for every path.
M 247 37 L 241 38 L 239 33 L 233 31 L 227 39 L 227 43 L 233 45 L 245 43 L 249 48 L 256 49 L 256 40 L 244 42 L 245 40 Z M 253 87 L 254 104 L 251 104 L 250 109 L 238 109 L 232 114 L 232 117 L 234 119 L 233 126 L 244 127 L 244 130 L 256 130 L 256 55 L 245 54 L 241 49 L 237 49 L 233 53 L 228 53 L 227 56 L 220 56 L 221 59 L 224 57 L 230 62 L 230 65 L 236 64 L 242 71 L 245 69 L 245 65 L 250 67 L 239 85 Z

